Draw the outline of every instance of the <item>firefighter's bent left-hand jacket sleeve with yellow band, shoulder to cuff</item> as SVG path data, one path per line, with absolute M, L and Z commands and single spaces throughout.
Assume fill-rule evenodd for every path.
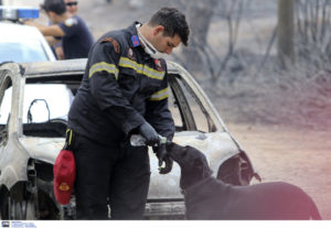
M 113 41 L 114 43 L 96 43 L 93 47 L 87 63 L 89 86 L 92 96 L 109 120 L 125 133 L 129 133 L 146 120 L 132 108 L 119 88 L 117 79 L 120 47 L 115 40 Z

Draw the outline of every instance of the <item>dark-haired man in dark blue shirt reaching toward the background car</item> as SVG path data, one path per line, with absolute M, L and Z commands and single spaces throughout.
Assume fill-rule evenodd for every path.
M 31 20 L 24 23 L 35 26 L 44 36 L 53 36 L 52 40 L 47 39 L 51 46 L 62 39 L 65 59 L 87 57 L 94 40 L 85 22 L 66 10 L 64 0 L 44 0 L 41 7 L 52 24 L 42 25 Z

